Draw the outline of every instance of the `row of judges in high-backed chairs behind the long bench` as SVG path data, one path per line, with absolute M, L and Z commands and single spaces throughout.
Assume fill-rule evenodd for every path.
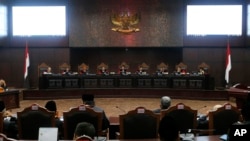
M 91 74 L 91 72 L 89 72 L 89 66 L 86 65 L 85 63 L 82 63 L 81 65 L 78 66 L 77 72 L 71 71 L 71 66 L 68 65 L 67 63 L 63 63 L 62 65 L 60 65 L 59 69 L 60 69 L 59 74 L 65 74 L 65 75 L 69 75 L 69 74 L 88 75 L 88 74 Z M 42 63 L 41 65 L 39 65 L 38 70 L 39 70 L 39 74 L 53 74 L 51 67 L 45 63 Z M 142 64 L 138 65 L 138 68 L 136 69 L 136 72 L 134 74 L 148 75 L 149 74 L 148 70 L 149 70 L 149 65 L 147 65 L 146 63 L 143 62 Z M 193 71 L 192 73 L 197 74 L 197 75 L 205 75 L 205 74 L 208 74 L 208 70 L 209 70 L 209 66 L 203 62 L 198 66 L 198 70 Z M 169 71 L 168 65 L 162 62 L 159 65 L 157 65 L 155 74 L 167 75 L 167 74 L 169 74 L 168 71 Z M 126 62 L 122 62 L 118 66 L 118 71 L 110 71 L 109 66 L 107 64 L 101 63 L 97 66 L 97 72 L 95 74 L 99 74 L 99 75 L 109 75 L 109 74 L 130 75 L 131 72 L 129 71 L 129 65 Z M 186 74 L 190 74 L 190 73 L 187 71 L 187 65 L 181 62 L 175 66 L 175 71 L 172 74 L 186 75 Z

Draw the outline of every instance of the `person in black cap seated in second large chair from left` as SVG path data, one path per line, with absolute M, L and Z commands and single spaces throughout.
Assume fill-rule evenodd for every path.
M 105 111 L 102 108 L 95 105 L 94 95 L 83 94 L 82 95 L 82 102 L 83 102 L 83 104 L 90 106 L 94 111 L 103 113 L 102 130 L 104 130 L 104 131 L 107 130 L 109 128 L 109 125 L 110 125 L 109 120 L 105 114 Z

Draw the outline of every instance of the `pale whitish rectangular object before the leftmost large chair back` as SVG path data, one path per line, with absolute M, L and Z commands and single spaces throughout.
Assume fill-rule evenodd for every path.
M 58 141 L 58 128 L 40 127 L 38 141 Z

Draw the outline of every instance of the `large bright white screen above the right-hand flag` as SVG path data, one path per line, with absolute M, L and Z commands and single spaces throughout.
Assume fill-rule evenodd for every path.
M 187 5 L 186 35 L 242 35 L 242 5 Z

